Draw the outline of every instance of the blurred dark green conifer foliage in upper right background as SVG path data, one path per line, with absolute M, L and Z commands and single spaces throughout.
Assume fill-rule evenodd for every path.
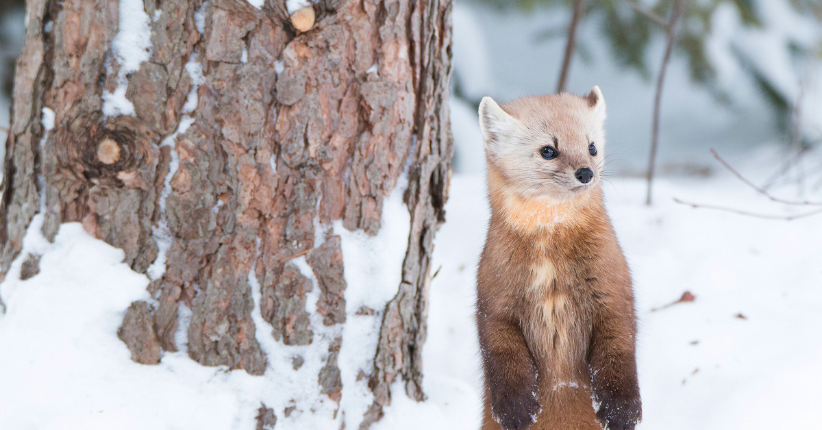
M 487 3 L 505 12 L 516 10 L 530 13 L 537 8 L 547 8 L 568 13 L 569 16 L 575 5 L 574 0 L 473 1 Z M 788 0 L 788 2 L 798 14 L 813 16 L 822 22 L 822 2 L 819 0 Z M 649 15 L 666 21 L 672 12 L 673 3 L 674 0 L 587 0 L 582 19 L 583 21 L 598 20 L 602 23 L 599 30 L 603 39 L 607 41 L 614 62 L 621 67 L 638 72 L 646 80 L 651 80 L 658 73 L 659 59 L 649 56 L 649 47 L 654 40 L 665 38 L 665 28 L 663 22 L 655 21 Z M 709 35 L 715 25 L 713 18 L 719 7 L 724 4 L 732 5 L 736 9 L 743 25 L 750 28 L 760 28 L 764 25 L 756 0 L 686 0 L 683 3 L 673 55 L 686 59 L 692 82 L 704 86 L 718 100 L 727 103 L 727 94 L 716 85 L 716 65 L 707 49 Z M 554 25 L 546 28 L 537 37 L 564 39 L 566 35 L 567 25 Z M 792 61 L 797 68 L 809 58 L 822 58 L 822 40 L 817 39 L 815 43 L 808 44 L 806 41 L 786 38 L 784 44 L 784 48 L 791 53 Z M 583 62 L 590 60 L 589 45 L 590 40 L 579 37 L 576 39 L 575 56 L 579 60 Z M 786 94 L 786 91 L 772 80 L 772 76 L 764 70 L 764 65 L 752 58 L 750 52 L 734 49 L 733 53 L 738 66 L 755 83 L 763 101 L 773 109 L 779 131 L 790 133 L 792 96 Z M 459 91 L 459 87 L 457 90 Z M 807 144 L 807 142 L 804 143 Z

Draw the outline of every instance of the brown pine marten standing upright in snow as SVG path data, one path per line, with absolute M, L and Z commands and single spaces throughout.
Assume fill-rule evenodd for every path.
M 477 275 L 487 429 L 633 429 L 634 294 L 600 187 L 605 100 L 479 105 L 491 220 Z

